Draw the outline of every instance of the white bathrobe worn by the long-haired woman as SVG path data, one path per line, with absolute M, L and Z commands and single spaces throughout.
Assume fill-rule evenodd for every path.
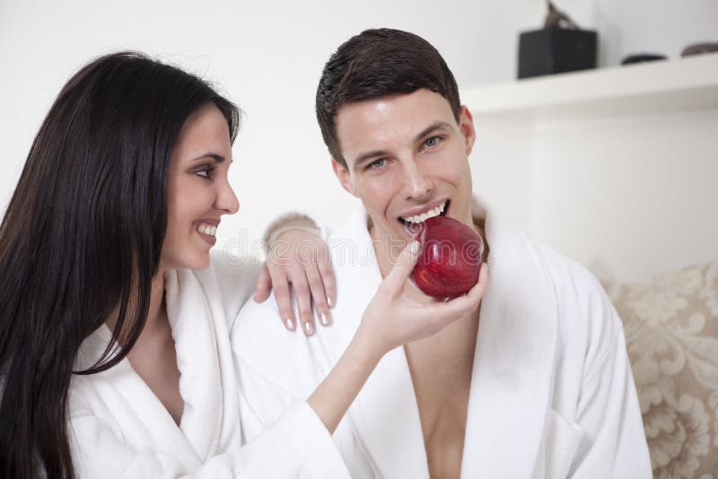
M 212 265 L 204 271 L 173 270 L 165 275 L 185 402 L 180 426 L 127 359 L 99 374 L 75 375 L 69 437 L 78 477 L 346 475 L 327 429 L 301 400 L 287 402 L 275 423 L 243 445 L 245 418 L 240 417 L 242 399 L 232 364 L 229 321 L 250 297 L 257 268 L 229 266 L 222 257 L 213 257 Z M 83 342 L 75 370 L 99 358 L 110 336 L 104 326 L 92 333 Z

